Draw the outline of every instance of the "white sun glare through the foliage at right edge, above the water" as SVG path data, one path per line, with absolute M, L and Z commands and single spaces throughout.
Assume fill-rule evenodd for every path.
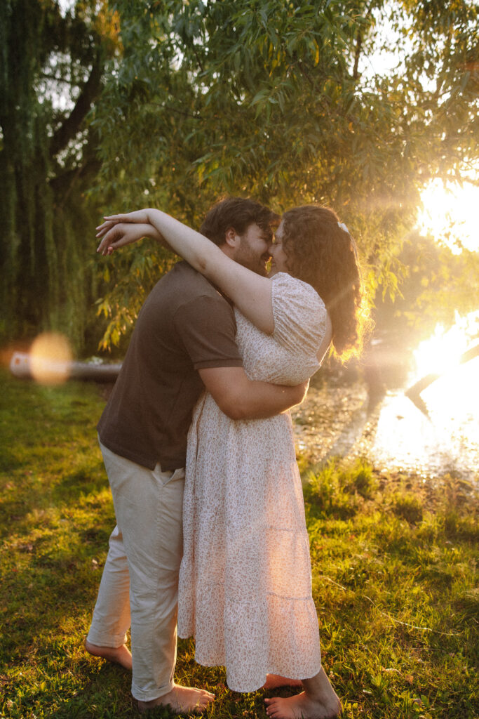
M 452 252 L 465 249 L 479 251 L 479 188 L 473 183 L 446 186 L 434 180 L 421 193 L 423 209 L 417 227 L 421 234 L 432 235 L 437 242 L 447 244 Z M 457 240 L 460 244 L 457 244 Z

